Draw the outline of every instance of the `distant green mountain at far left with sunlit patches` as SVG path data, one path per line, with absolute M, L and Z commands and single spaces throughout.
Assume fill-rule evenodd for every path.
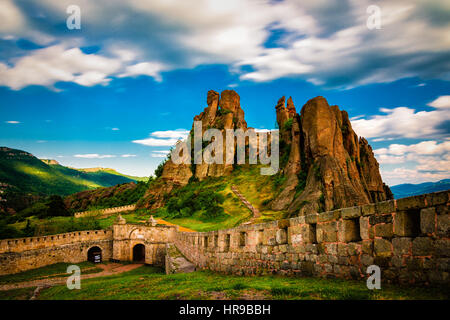
M 97 187 L 136 182 L 118 172 L 86 172 L 60 165 L 55 160 L 40 160 L 31 153 L 0 147 L 0 211 L 21 209 L 30 197 L 61 196 Z M 3 210 L 2 210 L 3 209 Z

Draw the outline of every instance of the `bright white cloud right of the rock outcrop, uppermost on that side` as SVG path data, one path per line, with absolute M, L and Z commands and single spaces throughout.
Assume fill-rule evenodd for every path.
M 449 96 L 441 96 L 428 105 L 436 110 L 416 112 L 407 107 L 382 108 L 380 111 L 385 115 L 353 120 L 352 127 L 358 135 L 377 138 L 378 141 L 394 138 L 437 138 L 448 134 L 443 125 L 450 121 Z

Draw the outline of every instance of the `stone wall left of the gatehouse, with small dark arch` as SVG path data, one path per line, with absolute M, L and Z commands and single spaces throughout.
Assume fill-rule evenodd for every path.
M 76 231 L 51 236 L 0 241 L 0 275 L 40 268 L 46 265 L 87 260 L 92 247 L 102 249 L 103 260 L 112 258 L 111 230 Z

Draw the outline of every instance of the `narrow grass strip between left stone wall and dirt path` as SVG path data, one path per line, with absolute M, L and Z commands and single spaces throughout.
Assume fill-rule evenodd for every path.
M 0 276 L 0 285 L 39 279 L 66 277 L 67 267 L 73 263 L 56 263 L 42 268 L 32 269 L 21 273 Z M 102 271 L 91 262 L 76 263 L 82 274 L 97 273 Z

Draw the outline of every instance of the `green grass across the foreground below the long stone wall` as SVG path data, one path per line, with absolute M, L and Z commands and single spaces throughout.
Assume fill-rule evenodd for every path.
M 0 299 L 26 298 L 32 290 L 0 291 Z M 83 280 L 80 290 L 66 286 L 44 289 L 39 299 L 449 299 L 449 289 L 383 285 L 381 290 L 368 290 L 363 280 L 240 277 L 209 271 L 165 275 L 162 269 L 143 266 L 120 275 Z

